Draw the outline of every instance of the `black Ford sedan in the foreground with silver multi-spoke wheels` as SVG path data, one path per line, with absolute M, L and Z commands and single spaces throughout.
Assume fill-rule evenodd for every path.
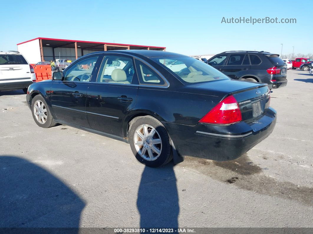
M 236 159 L 276 123 L 266 84 L 152 50 L 85 55 L 30 85 L 26 99 L 38 126 L 61 123 L 128 142 L 149 167 L 183 156 Z

